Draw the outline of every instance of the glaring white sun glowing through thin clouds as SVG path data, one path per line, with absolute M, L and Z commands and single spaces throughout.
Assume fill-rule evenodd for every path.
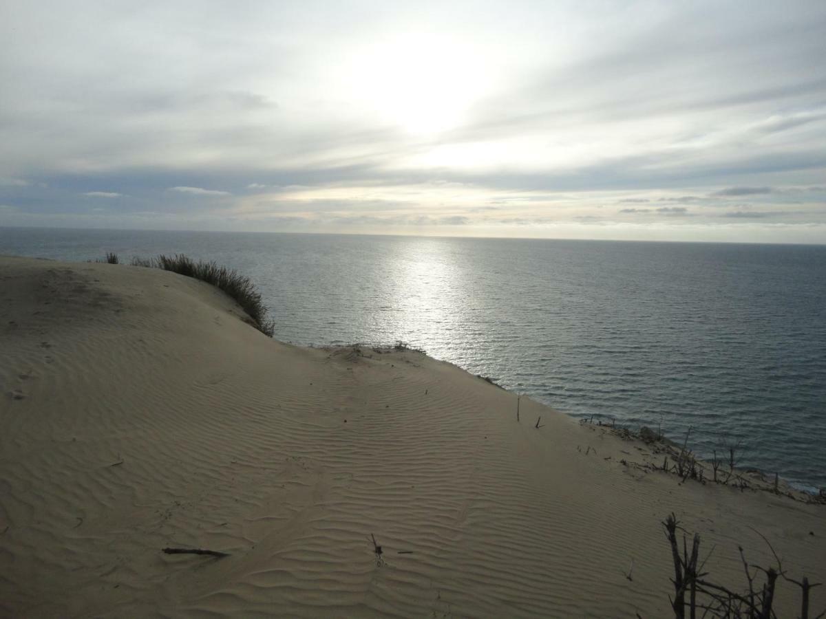
M 378 120 L 415 135 L 461 125 L 485 89 L 482 58 L 470 45 L 421 33 L 368 46 L 352 75 L 356 96 Z

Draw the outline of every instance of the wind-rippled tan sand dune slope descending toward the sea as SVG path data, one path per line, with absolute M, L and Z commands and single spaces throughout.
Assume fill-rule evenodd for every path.
M 667 617 L 672 511 L 729 584 L 738 544 L 768 561 L 749 527 L 826 579 L 823 506 L 646 474 L 456 367 L 239 315 L 169 272 L 0 259 L 2 616 Z

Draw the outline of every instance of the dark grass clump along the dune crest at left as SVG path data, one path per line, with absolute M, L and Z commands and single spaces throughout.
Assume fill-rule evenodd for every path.
M 97 262 L 104 262 L 98 260 Z M 110 264 L 118 264 L 117 254 L 107 253 L 106 261 Z M 160 268 L 164 271 L 176 272 L 180 275 L 193 277 L 197 280 L 206 281 L 207 284 L 216 286 L 227 295 L 230 295 L 244 312 L 252 319 L 252 324 L 264 335 L 273 337 L 275 331 L 275 321 L 268 319 L 267 306 L 261 300 L 261 293 L 255 290 L 249 277 L 241 275 L 235 269 L 219 267 L 216 262 L 205 262 L 199 260 L 195 262 L 192 258 L 183 253 L 176 253 L 174 256 L 161 254 L 158 258 L 132 258 L 133 267 Z

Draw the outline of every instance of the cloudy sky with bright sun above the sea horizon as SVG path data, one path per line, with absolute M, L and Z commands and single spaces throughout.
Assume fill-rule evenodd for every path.
M 0 226 L 826 243 L 826 2 L 4 0 Z

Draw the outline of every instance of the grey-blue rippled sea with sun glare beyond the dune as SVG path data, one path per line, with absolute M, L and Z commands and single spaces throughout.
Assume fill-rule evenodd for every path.
M 826 246 L 0 229 L 0 254 L 187 253 L 259 286 L 275 337 L 425 349 L 575 416 L 662 424 L 826 486 Z

